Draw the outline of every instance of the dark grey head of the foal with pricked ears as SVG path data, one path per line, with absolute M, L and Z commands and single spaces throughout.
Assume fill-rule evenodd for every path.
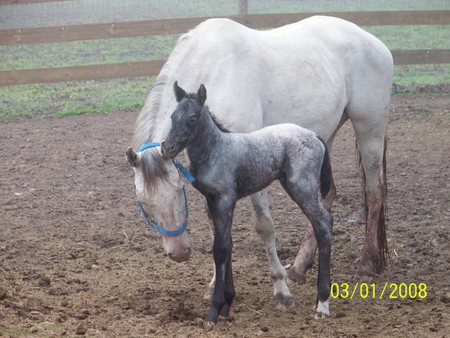
M 172 127 L 169 136 L 162 142 L 162 152 L 168 158 L 174 158 L 197 135 L 201 124 L 198 123 L 203 114 L 206 101 L 206 88 L 200 85 L 197 94 L 187 94 L 178 83 L 174 85 L 178 106 L 172 113 Z

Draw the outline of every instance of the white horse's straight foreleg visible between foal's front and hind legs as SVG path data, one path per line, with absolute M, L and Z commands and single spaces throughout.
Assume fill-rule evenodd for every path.
M 273 303 L 276 309 L 285 309 L 294 305 L 286 283 L 287 273 L 280 262 L 275 244 L 275 226 L 269 211 L 269 200 L 266 189 L 251 195 L 256 232 L 261 236 L 266 247 L 270 265 L 270 275 L 274 286 Z

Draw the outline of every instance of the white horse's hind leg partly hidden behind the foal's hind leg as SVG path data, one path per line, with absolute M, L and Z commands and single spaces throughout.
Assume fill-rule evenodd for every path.
M 332 181 L 330 191 L 321 200 L 322 205 L 328 212 L 331 212 L 334 197 L 336 196 L 336 187 L 334 180 Z M 289 267 L 288 279 L 292 282 L 304 283 L 306 280 L 306 271 L 311 269 L 314 263 L 314 256 L 316 254 L 317 241 L 314 236 L 314 230 L 309 223 L 302 244 L 295 257 L 294 264 Z

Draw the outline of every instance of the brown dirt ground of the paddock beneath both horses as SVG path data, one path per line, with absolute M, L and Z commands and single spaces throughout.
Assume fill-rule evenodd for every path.
M 316 266 L 291 287 L 294 309 L 274 311 L 266 255 L 242 200 L 237 296 L 213 328 L 202 320 L 212 276 L 203 201 L 187 183 L 193 255 L 170 261 L 139 212 L 124 156 L 137 112 L 0 124 L 0 336 L 450 337 L 450 95 L 397 96 L 391 108 L 388 270 L 356 274 L 364 223 L 348 123 L 332 151 L 332 281 L 341 295 L 343 283 L 356 290 L 353 298 L 332 299 L 331 316 L 314 319 Z M 289 264 L 306 221 L 279 184 L 270 197 Z

